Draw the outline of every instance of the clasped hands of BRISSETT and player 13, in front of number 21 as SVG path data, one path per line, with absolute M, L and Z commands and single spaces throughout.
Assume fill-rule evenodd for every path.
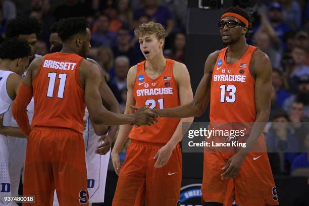
M 151 110 L 149 106 L 147 107 L 130 106 L 130 108 L 136 110 L 136 112 L 132 114 L 133 117 L 132 124 L 136 125 L 137 127 L 140 127 L 142 125 L 151 126 L 155 124 L 155 122 L 158 122 L 156 118 L 159 117 L 159 115 L 153 112 L 153 110 Z

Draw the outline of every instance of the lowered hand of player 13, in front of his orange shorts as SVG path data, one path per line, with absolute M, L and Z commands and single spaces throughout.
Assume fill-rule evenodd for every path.
M 222 168 L 222 170 L 227 170 L 223 174 L 221 174 L 221 179 L 226 180 L 234 178 L 238 174 L 245 157 L 246 155 L 243 153 L 236 153 L 236 155 L 231 157 Z

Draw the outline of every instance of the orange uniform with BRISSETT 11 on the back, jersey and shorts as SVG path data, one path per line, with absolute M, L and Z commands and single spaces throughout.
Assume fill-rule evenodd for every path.
M 60 205 L 88 205 L 83 116 L 83 60 L 76 54 L 44 56 L 32 81 L 34 115 L 26 149 L 23 195 L 50 205 L 56 188 Z

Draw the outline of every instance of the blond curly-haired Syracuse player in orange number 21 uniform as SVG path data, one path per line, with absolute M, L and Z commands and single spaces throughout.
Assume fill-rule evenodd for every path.
M 129 70 L 125 114 L 133 114 L 130 105 L 164 109 L 190 102 L 193 93 L 186 66 L 163 56 L 163 26 L 149 22 L 134 32 L 146 60 Z M 119 175 L 114 206 L 137 206 L 144 202 L 147 206 L 179 203 L 182 179 L 179 141 L 182 123 L 192 121 L 193 118 L 158 118 L 159 123 L 151 127 L 132 129 L 130 125 L 120 126 L 112 150 L 113 166 Z M 118 154 L 128 136 L 131 143 L 121 167 Z

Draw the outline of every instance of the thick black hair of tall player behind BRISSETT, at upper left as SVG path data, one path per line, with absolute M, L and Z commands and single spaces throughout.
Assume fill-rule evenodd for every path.
M 8 22 L 5 30 L 6 37 L 14 38 L 19 35 L 29 35 L 35 33 L 38 37 L 42 24 L 32 17 L 18 17 Z

